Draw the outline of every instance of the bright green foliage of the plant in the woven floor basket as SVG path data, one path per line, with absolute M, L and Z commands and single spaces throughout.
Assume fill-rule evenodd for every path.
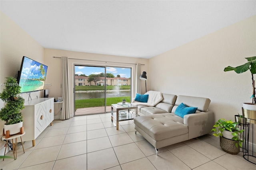
M 244 140 L 241 140 L 239 136 L 244 130 L 239 130 L 237 122 L 233 122 L 231 120 L 228 121 L 226 119 L 219 119 L 213 127 L 214 128 L 212 129 L 212 131 L 214 132 L 214 136 L 222 137 L 223 131 L 230 131 L 234 136 L 232 137 L 232 140 L 239 141 L 239 146 L 242 147 L 242 143 L 244 142 Z M 238 147 L 237 143 L 236 147 Z

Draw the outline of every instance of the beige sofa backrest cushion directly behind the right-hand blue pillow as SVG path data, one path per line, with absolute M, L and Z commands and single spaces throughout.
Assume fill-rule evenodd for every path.
M 200 111 L 207 111 L 211 100 L 208 98 L 192 97 L 192 96 L 178 96 L 175 105 L 184 103 L 188 107 L 198 107 Z M 176 107 L 172 109 L 172 113 L 175 112 Z

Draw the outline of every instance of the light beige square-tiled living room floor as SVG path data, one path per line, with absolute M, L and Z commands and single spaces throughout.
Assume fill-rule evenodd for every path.
M 256 170 L 242 152 L 232 155 L 214 136 L 155 149 L 131 121 L 113 126 L 110 113 L 76 116 L 48 126 L 36 139 L 18 149 L 17 159 L 0 160 L 3 170 Z M 7 155 L 12 156 L 12 152 Z

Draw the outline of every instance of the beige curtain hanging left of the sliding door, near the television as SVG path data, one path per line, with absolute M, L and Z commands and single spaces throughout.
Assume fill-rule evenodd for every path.
M 70 118 L 69 114 L 69 90 L 68 90 L 68 57 L 61 57 L 62 61 L 62 112 L 60 119 Z

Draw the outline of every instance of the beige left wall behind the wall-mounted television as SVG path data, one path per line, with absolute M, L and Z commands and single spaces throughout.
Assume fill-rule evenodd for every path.
M 0 13 L 0 21 L 0 83 L 4 83 L 5 77 L 16 77 L 23 56 L 43 62 L 44 48 L 2 12 Z M 1 92 L 3 88 L 0 86 Z M 38 98 L 43 97 L 42 91 L 31 93 L 32 99 L 35 99 L 36 96 Z M 28 94 L 24 93 L 22 97 L 28 100 Z M 0 108 L 2 108 L 4 103 L 2 100 L 0 103 Z M 0 121 L 0 123 L 0 132 L 2 132 L 4 121 Z

